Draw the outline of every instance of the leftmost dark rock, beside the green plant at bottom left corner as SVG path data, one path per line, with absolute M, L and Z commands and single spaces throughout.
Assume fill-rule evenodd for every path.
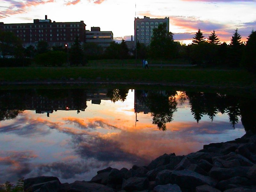
M 60 184 L 60 180 L 57 177 L 40 176 L 34 178 L 28 178 L 24 180 L 24 191 L 35 191 L 47 182 L 57 181 Z

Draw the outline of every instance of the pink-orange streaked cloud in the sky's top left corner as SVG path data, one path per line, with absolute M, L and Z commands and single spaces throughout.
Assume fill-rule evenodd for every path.
M 40 4 L 52 3 L 54 0 L 24 0 L 24 1 L 17 1 L 17 0 L 5 0 L 8 3 L 8 7 L 4 11 L 0 12 L 0 19 L 9 17 L 10 15 L 15 15 L 19 13 L 26 13 L 31 6 L 37 6 Z

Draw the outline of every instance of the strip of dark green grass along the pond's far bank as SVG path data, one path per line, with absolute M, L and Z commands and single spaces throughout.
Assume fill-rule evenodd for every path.
M 1 68 L 0 81 L 78 79 L 101 82 L 180 83 L 191 85 L 255 87 L 255 78 L 245 70 L 182 68 L 90 68 L 26 67 Z M 81 79 L 80 78 L 80 79 Z

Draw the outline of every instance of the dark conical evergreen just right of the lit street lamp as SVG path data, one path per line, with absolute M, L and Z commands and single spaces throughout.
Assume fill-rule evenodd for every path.
M 71 65 L 83 64 L 83 51 L 79 37 L 76 36 L 75 41 L 70 50 Z

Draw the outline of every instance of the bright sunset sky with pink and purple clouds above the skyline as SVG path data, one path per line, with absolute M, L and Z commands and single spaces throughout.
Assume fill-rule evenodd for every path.
M 136 4 L 136 8 L 135 8 Z M 170 18 L 175 40 L 189 40 L 198 28 L 205 37 L 215 30 L 229 42 L 238 28 L 242 40 L 256 28 L 255 0 L 1 0 L 0 22 L 28 23 L 33 19 L 56 22 L 84 20 L 90 29 L 112 31 L 114 37 L 134 35 L 134 18 Z M 184 41 L 187 42 L 187 41 Z

